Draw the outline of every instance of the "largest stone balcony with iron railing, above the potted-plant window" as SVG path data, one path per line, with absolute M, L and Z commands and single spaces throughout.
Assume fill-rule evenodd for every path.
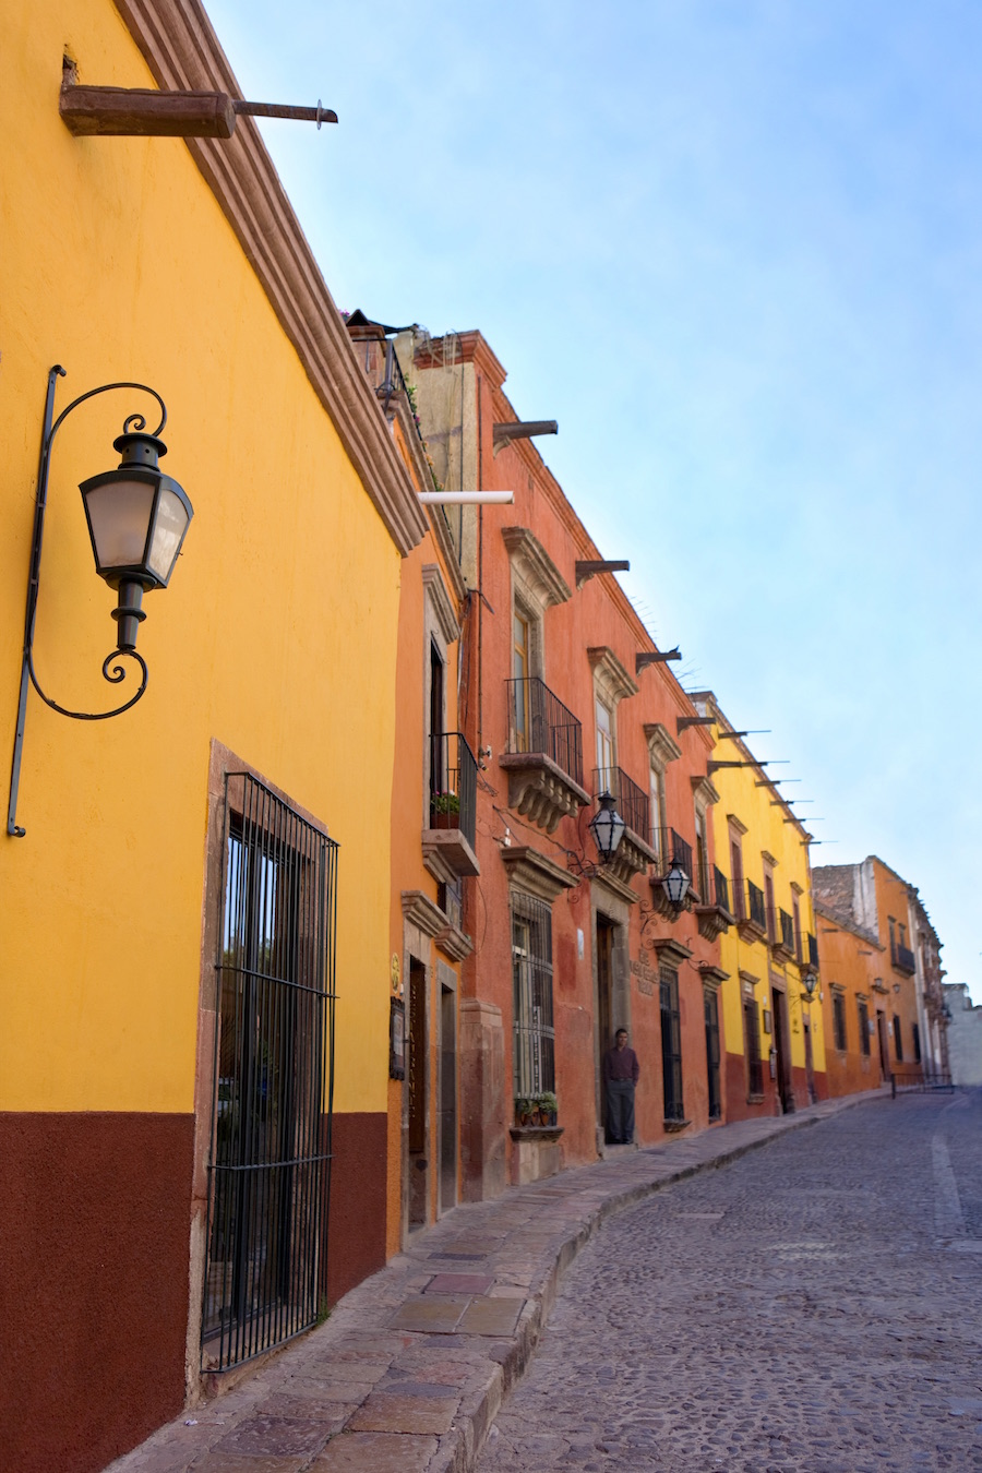
M 505 682 L 508 807 L 552 834 L 590 801 L 583 788 L 583 728 L 537 676 Z

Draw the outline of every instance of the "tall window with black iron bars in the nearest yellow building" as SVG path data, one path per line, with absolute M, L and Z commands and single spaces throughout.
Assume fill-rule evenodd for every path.
M 225 779 L 202 1365 L 317 1321 L 325 1282 L 337 846 Z

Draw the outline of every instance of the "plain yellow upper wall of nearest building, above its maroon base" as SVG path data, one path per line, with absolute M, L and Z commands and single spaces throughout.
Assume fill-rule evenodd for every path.
M 186 144 L 60 122 L 65 52 L 82 82 L 153 85 L 109 0 L 1 13 L 4 792 L 52 364 L 59 408 L 119 379 L 163 395 L 163 468 L 196 516 L 171 588 L 146 600 L 143 701 L 84 723 L 29 697 L 28 834 L 0 838 L 0 1108 L 191 1111 L 215 736 L 342 846 L 334 1105 L 384 1111 L 365 1050 L 387 1038 L 399 554 Z M 77 485 L 116 464 L 144 407 L 105 395 L 56 442 L 35 660 L 62 704 L 118 700 L 99 675 L 115 595 Z

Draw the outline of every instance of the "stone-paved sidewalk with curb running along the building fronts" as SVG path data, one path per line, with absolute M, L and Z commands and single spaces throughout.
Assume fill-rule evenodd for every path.
M 885 1090 L 624 1152 L 458 1206 L 327 1324 L 184 1413 L 110 1473 L 462 1473 L 599 1226 L 660 1187 Z

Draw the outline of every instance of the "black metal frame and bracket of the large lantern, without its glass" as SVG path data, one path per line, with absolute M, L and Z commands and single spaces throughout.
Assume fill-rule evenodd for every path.
M 146 661 L 143 655 L 137 654 L 134 648 L 137 629 L 140 627 L 140 623 L 146 619 L 146 614 L 143 613 L 141 608 L 143 592 L 147 591 L 149 588 L 166 588 L 171 572 L 174 569 L 174 563 L 177 563 L 177 557 L 180 555 L 181 544 L 184 541 L 184 532 L 187 530 L 187 523 L 190 523 L 190 518 L 193 516 L 191 505 L 187 501 L 187 496 L 184 495 L 181 488 L 177 485 L 177 482 L 171 480 L 168 476 L 163 476 L 156 470 L 158 455 L 166 452 L 166 446 L 163 445 L 162 440 L 158 439 L 160 430 L 166 424 L 166 405 L 163 404 L 163 399 L 156 392 L 156 389 L 150 389 L 150 386 L 146 383 L 131 383 L 131 382 L 105 383 L 100 384 L 100 387 L 97 389 L 88 389 L 85 393 L 80 393 L 78 398 L 72 399 L 72 402 L 62 409 L 59 417 L 54 418 L 54 386 L 57 380 L 63 377 L 65 377 L 65 370 L 60 367 L 60 364 L 56 364 L 49 371 L 47 395 L 44 399 L 44 423 L 41 429 L 41 452 L 38 458 L 37 496 L 34 502 L 34 533 L 31 538 L 31 563 L 28 570 L 27 607 L 24 614 L 21 692 L 18 698 L 18 720 L 13 736 L 13 759 L 10 763 L 10 801 L 7 807 L 7 834 L 12 838 L 24 838 L 27 832 L 16 822 L 16 809 L 18 809 L 18 788 L 21 784 L 21 756 L 24 751 L 24 728 L 27 720 L 28 686 L 32 685 L 37 694 L 44 701 L 44 704 L 50 706 L 53 711 L 57 711 L 60 716 L 69 716 L 72 720 L 77 722 L 103 722 L 107 720 L 110 716 L 121 716 L 122 711 L 128 711 L 133 706 L 137 704 L 137 701 L 146 691 L 149 681 L 149 670 Z M 115 442 L 116 449 L 119 449 L 121 454 L 124 455 L 124 464 L 127 467 L 128 465 L 134 467 L 133 470 L 125 471 L 124 479 L 128 476 L 131 480 L 138 480 L 144 493 L 147 488 L 156 488 L 156 491 L 152 493 L 150 498 L 153 502 L 153 510 L 150 513 L 152 521 L 149 523 L 149 533 L 143 545 L 144 554 L 150 555 L 152 552 L 152 538 L 156 529 L 158 502 L 160 496 L 160 489 L 165 489 L 166 495 L 172 496 L 174 501 L 178 502 L 178 505 L 180 504 L 184 505 L 186 524 L 184 529 L 180 530 L 180 535 L 174 533 L 174 536 L 169 539 L 169 552 L 168 552 L 169 566 L 166 569 L 158 567 L 156 572 L 147 572 L 130 566 L 113 569 L 107 566 L 100 566 L 99 563 L 99 549 L 96 546 L 97 539 L 91 529 L 90 505 L 88 502 L 85 504 L 87 516 L 90 517 L 90 535 L 93 536 L 93 549 L 96 551 L 97 557 L 96 563 L 97 572 L 110 583 L 112 588 L 118 588 L 119 592 L 119 605 L 112 611 L 113 619 L 116 620 L 118 647 L 116 650 L 112 650 L 102 663 L 103 679 L 106 679 L 110 685 L 119 685 L 121 681 L 125 681 L 127 667 L 124 664 L 119 664 L 118 661 L 124 657 L 128 657 L 134 660 L 140 667 L 141 681 L 137 691 L 130 697 L 130 700 L 124 701 L 122 706 L 115 706 L 109 711 L 72 711 L 68 710 L 68 707 L 60 706 L 57 701 L 52 700 L 52 697 L 41 689 L 41 683 L 34 669 L 34 625 L 37 620 L 37 601 L 41 582 L 41 548 L 44 542 L 44 516 L 47 511 L 47 485 L 49 485 L 49 474 L 52 464 L 52 446 L 54 443 L 54 436 L 57 435 L 59 429 L 62 427 L 68 415 L 72 412 L 72 409 L 77 409 L 81 404 L 85 404 L 87 399 L 94 399 L 96 395 L 110 393 L 112 390 L 116 389 L 137 389 L 141 393 L 149 393 L 153 399 L 156 399 L 156 402 L 160 407 L 160 423 L 153 432 L 153 435 L 144 433 L 147 421 L 141 414 L 131 414 L 124 421 L 122 436 L 119 436 L 119 439 L 116 439 Z M 121 471 L 122 470 L 124 467 L 121 465 Z M 116 480 L 118 476 L 119 473 L 109 473 L 106 476 L 91 477 L 91 480 L 82 483 L 82 493 L 85 493 L 87 491 L 97 489 L 100 483 Z M 105 511 L 103 511 L 103 518 L 105 518 Z M 168 539 L 168 533 L 172 529 L 165 530 L 165 541 Z M 153 555 L 158 555 L 156 551 Z

